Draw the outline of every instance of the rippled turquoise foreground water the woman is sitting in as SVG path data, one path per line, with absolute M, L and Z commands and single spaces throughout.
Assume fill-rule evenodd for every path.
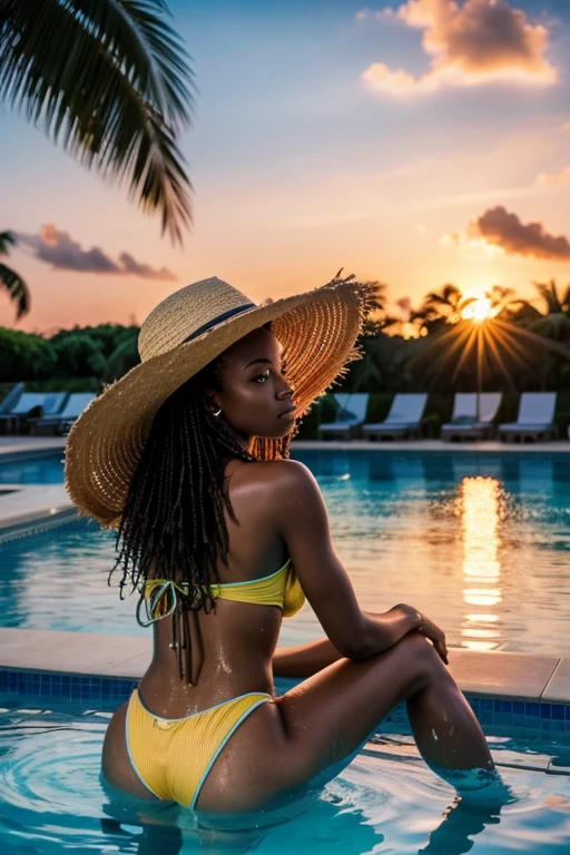
M 422 761 L 382 756 L 368 744 L 355 760 L 304 805 L 304 813 L 268 827 L 213 833 L 196 815 L 151 807 L 109 793 L 99 777 L 110 712 L 41 698 L 0 701 L 0 852 L 249 853 L 285 855 L 562 855 L 570 848 L 570 778 L 501 769 L 512 790 L 500 810 L 453 807 L 454 790 Z M 56 704 L 57 706 L 53 706 Z M 560 753 L 559 744 L 490 738 L 495 759 Z M 570 745 L 562 746 L 570 753 Z M 257 816 L 267 826 L 272 818 Z

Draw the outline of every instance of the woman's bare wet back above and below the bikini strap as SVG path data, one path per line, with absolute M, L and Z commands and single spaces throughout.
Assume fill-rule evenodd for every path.
M 219 581 L 268 576 L 288 558 L 278 534 L 276 465 L 232 460 L 226 474 L 237 522 L 225 513 L 229 551 L 227 566 L 218 562 Z M 247 691 L 273 691 L 271 665 L 282 621 L 277 607 L 218 600 L 215 612 L 193 618 L 193 662 L 199 676 L 191 687 L 179 679 L 169 648 L 170 620 L 155 625 L 155 656 L 140 684 L 154 711 L 180 718 Z

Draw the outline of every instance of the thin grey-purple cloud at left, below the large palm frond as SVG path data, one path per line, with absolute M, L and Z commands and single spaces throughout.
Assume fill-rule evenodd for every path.
M 52 223 L 41 226 L 39 234 L 17 234 L 18 240 L 31 249 L 35 258 L 51 264 L 58 271 L 79 271 L 81 273 L 129 274 L 145 279 L 176 279 L 166 267 L 153 269 L 148 264 L 140 264 L 129 253 L 121 253 L 119 262 L 112 261 L 98 246 L 83 249 L 68 232 L 61 232 Z

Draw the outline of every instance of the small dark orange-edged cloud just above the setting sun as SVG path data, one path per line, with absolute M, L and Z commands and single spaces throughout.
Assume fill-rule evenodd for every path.
M 465 229 L 444 235 L 444 245 L 479 247 L 524 258 L 570 259 L 570 240 L 563 235 L 551 235 L 542 223 L 522 223 L 517 214 L 502 205 L 489 208 Z

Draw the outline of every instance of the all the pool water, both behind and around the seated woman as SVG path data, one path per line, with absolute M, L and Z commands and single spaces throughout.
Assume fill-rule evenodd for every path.
M 295 456 L 321 484 L 335 544 L 365 608 L 411 601 L 444 627 L 453 646 L 567 652 L 570 456 L 332 450 Z M 144 632 L 134 601 L 120 602 L 107 587 L 112 546 L 112 534 L 88 521 L 1 544 L 1 622 Z M 321 633 L 311 610 L 284 621 L 284 631 L 285 643 Z M 570 770 L 570 734 L 513 738 L 505 727 L 488 736 L 495 759 L 512 764 L 502 774 L 514 800 L 500 815 L 460 805 L 442 816 L 453 789 L 414 758 L 405 734 L 392 730 L 286 826 L 212 835 L 184 810 L 160 806 L 141 815 L 139 806 L 109 798 L 99 764 L 117 698 L 86 702 L 79 692 L 66 701 L 59 691 L 49 698 L 42 691 L 38 678 L 28 695 L 0 697 L 2 855 L 570 849 L 570 777 L 540 770 Z M 478 715 L 482 720 L 484 712 Z

